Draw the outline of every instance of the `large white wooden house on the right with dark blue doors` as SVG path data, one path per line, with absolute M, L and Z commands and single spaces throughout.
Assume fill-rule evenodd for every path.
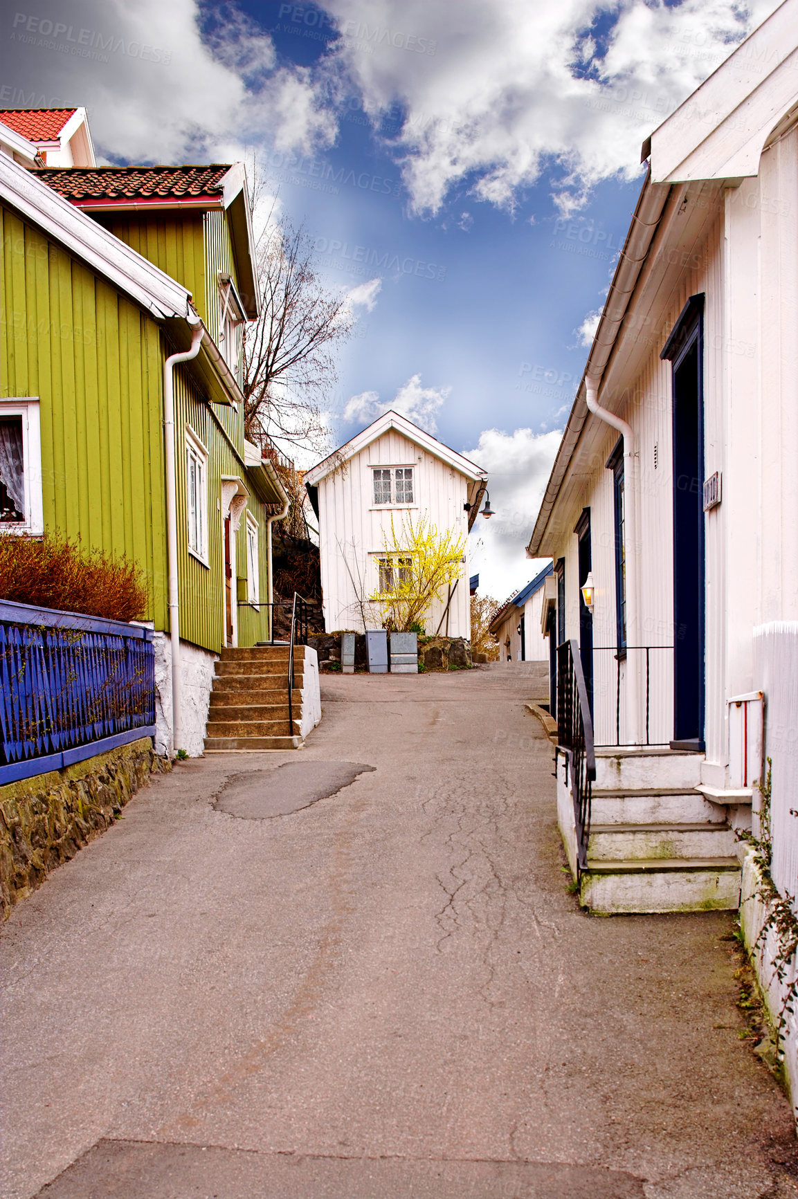
M 596 754 L 592 807 L 580 747 L 558 755 L 559 820 L 589 906 L 737 908 L 760 692 L 785 692 L 791 661 L 770 625 L 798 635 L 798 0 L 643 158 L 528 547 L 554 560 L 560 740 L 581 673 Z M 798 769 L 778 760 L 792 739 L 764 731 L 775 820 L 798 808 Z M 794 864 L 798 821 L 784 836 Z M 796 893 L 797 873 L 779 885 Z

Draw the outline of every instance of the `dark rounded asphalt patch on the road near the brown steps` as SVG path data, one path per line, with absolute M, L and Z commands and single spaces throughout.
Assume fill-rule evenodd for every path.
M 217 812 L 241 820 L 270 820 L 310 808 L 377 770 L 360 761 L 287 761 L 268 771 L 236 775 L 217 796 Z

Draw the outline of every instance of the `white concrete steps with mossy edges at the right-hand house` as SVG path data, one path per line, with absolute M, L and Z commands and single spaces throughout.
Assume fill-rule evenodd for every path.
M 738 908 L 734 831 L 727 808 L 695 789 L 701 760 L 670 749 L 596 751 L 588 869 L 580 886 L 586 908 Z

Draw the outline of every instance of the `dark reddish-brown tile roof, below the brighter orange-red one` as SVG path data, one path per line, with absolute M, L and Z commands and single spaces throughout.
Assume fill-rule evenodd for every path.
M 36 174 L 80 204 L 85 200 L 193 199 L 221 195 L 229 165 L 211 167 L 46 167 Z

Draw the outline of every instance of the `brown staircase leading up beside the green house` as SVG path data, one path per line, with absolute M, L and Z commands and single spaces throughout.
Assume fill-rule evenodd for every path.
M 288 646 L 222 650 L 205 727 L 205 753 L 299 749 L 305 646 L 294 646 L 293 725 L 288 727 Z

